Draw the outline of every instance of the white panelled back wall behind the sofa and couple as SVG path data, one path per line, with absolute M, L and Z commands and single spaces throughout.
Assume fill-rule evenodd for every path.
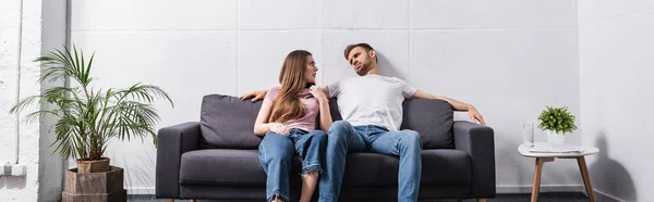
M 198 121 L 204 94 L 276 85 L 294 49 L 314 53 L 320 85 L 355 76 L 342 50 L 370 42 L 383 74 L 476 105 L 495 129 L 500 192 L 531 187 L 534 160 L 517 152 L 522 123 L 535 122 L 546 104 L 579 115 L 577 2 L 570 0 L 73 0 L 71 36 L 96 52 L 98 86 L 144 81 L 170 92 L 175 108 L 159 104 L 160 127 Z M 580 142 L 579 134 L 568 141 Z M 108 154 L 126 168 L 132 193 L 154 192 L 149 140 L 113 142 Z M 544 190 L 578 185 L 574 162 L 546 165 Z

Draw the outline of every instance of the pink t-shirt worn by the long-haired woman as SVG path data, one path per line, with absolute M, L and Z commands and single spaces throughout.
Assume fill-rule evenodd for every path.
M 270 101 L 275 101 L 277 94 L 279 93 L 280 87 L 272 87 L 266 93 L 265 99 L 269 99 Z M 284 126 L 290 128 L 300 128 L 306 131 L 312 131 L 316 129 L 316 116 L 318 115 L 318 100 L 316 100 L 308 89 L 302 89 L 298 92 L 298 97 L 300 97 L 300 102 L 304 104 L 304 116 L 298 119 L 291 119 L 286 123 L 282 123 Z

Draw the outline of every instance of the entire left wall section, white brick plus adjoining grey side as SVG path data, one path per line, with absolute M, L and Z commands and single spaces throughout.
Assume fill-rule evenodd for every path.
M 25 166 L 27 173 L 24 177 L 0 178 L 0 201 L 58 201 L 61 200 L 62 160 L 51 155 L 48 148 L 52 140 L 52 136 L 48 136 L 52 119 L 26 124 L 24 115 L 39 110 L 33 105 L 21 113 L 17 129 L 16 116 L 10 115 L 9 109 L 16 102 L 19 92 L 25 98 L 58 85 L 37 84 L 40 72 L 33 60 L 39 56 L 41 49 L 64 43 L 65 0 L 21 2 L 0 2 L 0 165 L 15 163 L 15 135 L 20 131 L 17 163 Z

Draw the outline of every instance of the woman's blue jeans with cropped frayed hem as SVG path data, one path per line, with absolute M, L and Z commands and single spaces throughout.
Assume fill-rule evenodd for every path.
M 291 128 L 290 134 L 279 135 L 274 131 L 266 132 L 259 144 L 258 157 L 268 176 L 266 180 L 266 199 L 277 199 L 288 202 L 289 180 L 293 155 L 303 157 L 302 173 L 323 172 L 327 134 L 323 130 L 307 132 L 302 129 Z

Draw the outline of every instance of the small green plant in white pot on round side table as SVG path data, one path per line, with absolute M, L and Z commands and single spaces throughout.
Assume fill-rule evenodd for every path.
M 549 146 L 562 146 L 566 141 L 566 134 L 577 129 L 574 125 L 574 115 L 568 112 L 568 106 L 554 108 L 546 106 L 538 121 L 538 128 L 547 132 L 547 142 Z

